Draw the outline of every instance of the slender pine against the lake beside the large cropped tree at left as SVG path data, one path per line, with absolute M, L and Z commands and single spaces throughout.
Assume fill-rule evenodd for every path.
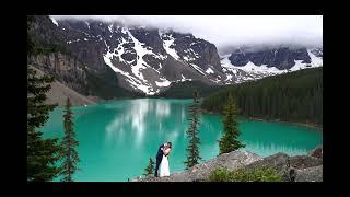
M 69 97 L 67 97 L 63 115 L 63 125 L 65 125 L 65 137 L 62 144 L 62 158 L 63 162 L 61 165 L 61 175 L 63 175 L 62 181 L 72 182 L 72 175 L 78 170 L 78 162 L 80 161 L 78 152 L 75 150 L 79 141 L 75 140 L 75 132 L 73 129 L 73 112 L 71 111 L 71 103 Z

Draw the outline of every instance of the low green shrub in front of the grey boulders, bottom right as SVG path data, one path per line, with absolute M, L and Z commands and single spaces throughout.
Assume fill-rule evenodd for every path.
M 210 182 L 281 182 L 282 178 L 273 169 L 262 167 L 230 172 L 228 169 L 217 169 L 210 176 Z

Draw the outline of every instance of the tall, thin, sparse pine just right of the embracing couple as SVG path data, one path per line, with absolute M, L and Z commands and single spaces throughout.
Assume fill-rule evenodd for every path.
M 199 163 L 199 160 L 201 160 L 201 157 L 199 155 L 199 148 L 200 144 L 200 138 L 198 137 L 198 126 L 199 126 L 199 100 L 198 100 L 198 91 L 194 91 L 194 104 L 189 107 L 190 113 L 190 126 L 188 130 L 186 131 L 188 141 L 187 147 L 187 161 L 184 163 L 186 164 L 186 170 L 195 166 Z

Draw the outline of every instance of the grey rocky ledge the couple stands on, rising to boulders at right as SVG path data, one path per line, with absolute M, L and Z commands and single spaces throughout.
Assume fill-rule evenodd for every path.
M 188 171 L 173 173 L 168 177 L 147 176 L 133 182 L 208 182 L 210 173 L 218 167 L 228 167 L 230 171 L 240 167 L 271 167 L 284 182 L 323 182 L 323 147 L 317 147 L 306 155 L 295 157 L 277 153 L 261 158 L 248 151 L 237 150 L 195 165 Z

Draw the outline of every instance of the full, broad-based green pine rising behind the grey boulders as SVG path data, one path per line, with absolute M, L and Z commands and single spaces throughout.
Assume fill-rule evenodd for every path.
M 237 139 L 240 136 L 240 130 L 238 130 L 238 123 L 236 120 L 236 115 L 237 115 L 236 105 L 230 94 L 228 105 L 224 112 L 223 136 L 219 140 L 219 148 L 220 148 L 219 154 L 228 153 L 245 147 L 245 144 L 243 144 Z

